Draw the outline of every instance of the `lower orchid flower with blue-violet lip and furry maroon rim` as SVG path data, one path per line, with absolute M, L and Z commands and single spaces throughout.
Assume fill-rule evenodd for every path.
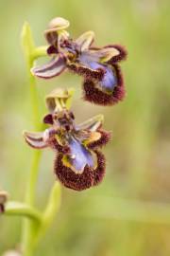
M 49 114 L 43 119 L 50 128 L 44 132 L 25 132 L 26 142 L 33 148 L 52 148 L 59 181 L 67 188 L 82 191 L 101 182 L 105 174 L 105 157 L 99 148 L 110 139 L 102 130 L 102 116 L 76 125 L 66 106 L 68 91 L 54 91 L 46 98 Z

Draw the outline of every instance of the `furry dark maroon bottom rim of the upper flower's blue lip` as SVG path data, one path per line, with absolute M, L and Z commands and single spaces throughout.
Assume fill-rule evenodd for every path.
M 125 98 L 126 93 L 121 69 L 118 64 L 113 64 L 113 67 L 117 77 L 117 85 L 115 86 L 113 92 L 111 94 L 105 93 L 95 86 L 95 82 L 87 79 L 83 83 L 85 101 L 90 101 L 99 105 L 113 105 Z

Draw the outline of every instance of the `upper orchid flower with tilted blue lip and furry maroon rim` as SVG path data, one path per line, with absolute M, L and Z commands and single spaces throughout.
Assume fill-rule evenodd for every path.
M 55 18 L 45 30 L 50 45 L 48 64 L 32 68 L 32 73 L 43 79 L 59 76 L 66 68 L 84 77 L 84 99 L 96 104 L 111 105 L 123 100 L 125 88 L 118 62 L 126 59 L 122 46 L 93 47 L 94 33 L 88 31 L 72 40 L 65 28 L 69 22 Z

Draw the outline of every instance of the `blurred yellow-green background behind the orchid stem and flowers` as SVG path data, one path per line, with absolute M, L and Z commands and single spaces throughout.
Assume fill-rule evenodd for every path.
M 0 186 L 11 199 L 24 199 L 32 155 L 22 137 L 24 129 L 33 129 L 20 46 L 24 22 L 37 46 L 45 44 L 42 31 L 49 20 L 62 16 L 70 20 L 74 38 L 91 29 L 96 46 L 120 43 L 128 50 L 122 64 L 127 98 L 116 106 L 81 101 L 82 79 L 72 74 L 38 81 L 42 116 L 46 93 L 74 86 L 76 121 L 103 113 L 113 138 L 104 150 L 103 183 L 85 192 L 62 189 L 61 210 L 36 256 L 170 255 L 169 13 L 169 0 L 0 0 Z M 53 152 L 43 152 L 40 209 L 54 183 L 53 159 Z M 20 218 L 1 217 L 0 254 L 18 245 L 20 228 Z

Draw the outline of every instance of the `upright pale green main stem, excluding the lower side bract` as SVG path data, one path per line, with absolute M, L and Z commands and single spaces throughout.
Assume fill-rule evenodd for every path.
M 29 25 L 26 23 L 22 31 L 22 45 L 26 57 L 26 69 L 29 79 L 29 90 L 30 90 L 30 99 L 32 105 L 32 119 L 33 126 L 36 130 L 40 129 L 40 111 L 39 111 L 39 99 L 36 87 L 36 80 L 31 74 L 30 69 L 32 68 L 36 58 L 46 55 L 45 47 L 34 46 L 32 33 Z M 29 180 L 26 189 L 26 204 L 30 207 L 34 206 L 35 201 L 35 190 L 39 174 L 39 164 L 41 160 L 41 151 L 34 151 L 32 165 L 30 168 Z M 35 223 L 30 220 L 24 221 L 23 226 L 23 237 L 22 237 L 22 249 L 24 256 L 31 256 L 34 247 L 34 236 L 37 231 L 37 226 Z

